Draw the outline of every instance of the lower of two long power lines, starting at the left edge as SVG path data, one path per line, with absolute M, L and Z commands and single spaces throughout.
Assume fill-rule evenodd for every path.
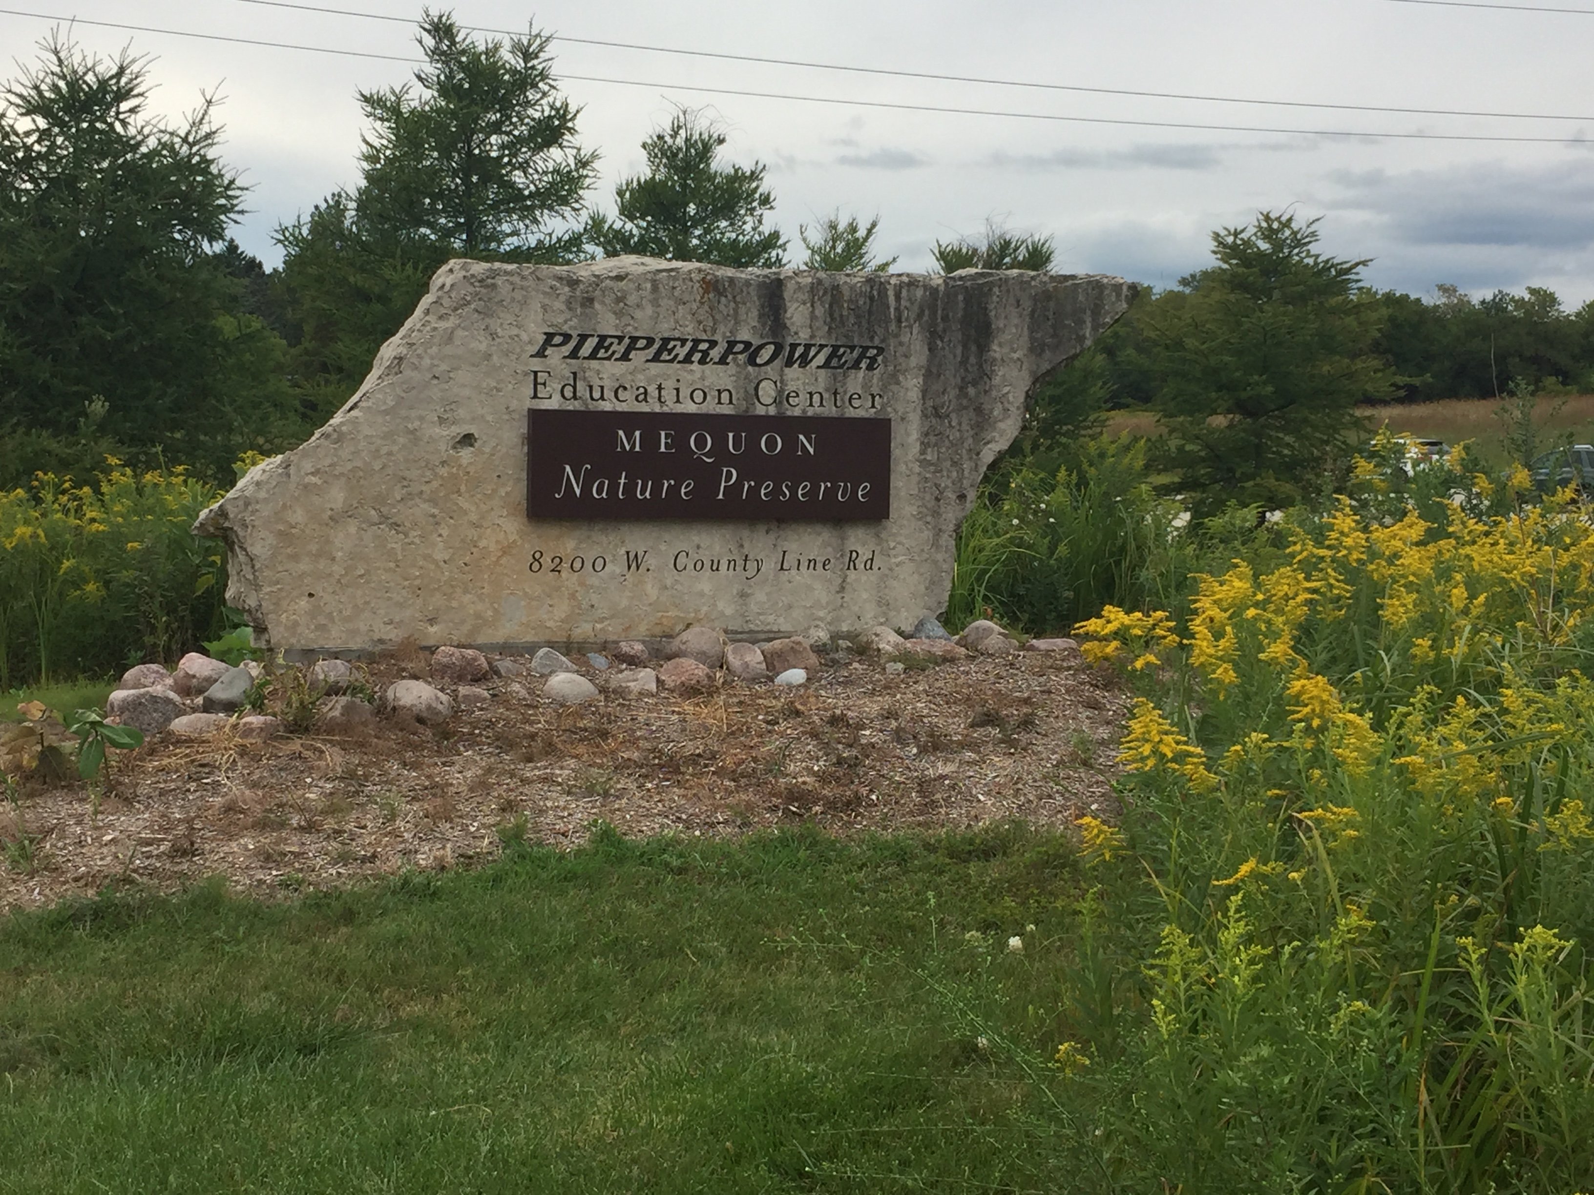
M 0 8 L 0 14 L 32 18 L 37 21 L 56 21 L 67 24 L 75 22 L 80 25 L 97 25 L 102 29 L 121 29 L 134 33 L 156 33 L 164 37 L 196 38 L 202 41 L 226 41 L 231 45 L 263 46 L 268 49 L 296 49 L 312 54 L 340 54 L 346 57 L 381 59 L 386 62 L 419 64 L 422 61 L 416 57 L 400 57 L 397 54 L 378 54 L 368 49 L 336 49 L 328 46 L 296 45 L 290 41 L 265 41 L 260 38 L 226 37 L 222 33 L 198 33 L 188 29 L 158 29 L 153 25 L 132 25 L 118 21 L 92 21 L 88 18 L 67 18 L 49 13 L 27 13 L 16 8 Z M 1519 145 L 1594 145 L 1594 142 L 1591 142 L 1586 137 L 1508 137 L 1508 135 L 1463 134 L 1463 132 L 1369 132 L 1356 129 L 1283 129 L 1283 127 L 1272 127 L 1261 124 L 1205 124 L 1197 121 L 1149 121 L 1149 120 L 1129 120 L 1121 116 L 1063 116 L 1046 112 L 1007 112 L 1001 108 L 960 108 L 960 107 L 947 107 L 936 104 L 901 104 L 893 100 L 862 100 L 862 99 L 842 99 L 832 96 L 800 96 L 794 92 L 779 92 L 779 91 L 714 88 L 701 83 L 650 83 L 650 81 L 639 81 L 628 78 L 607 78 L 601 75 L 559 73 L 556 78 L 577 83 L 607 83 L 622 88 L 649 88 L 662 91 L 700 91 L 711 96 L 744 96 L 751 99 L 792 100 L 800 104 L 834 104 L 842 107 L 886 108 L 893 112 L 929 112 L 929 113 L 952 115 L 952 116 L 1001 116 L 1012 120 L 1055 121 L 1065 124 L 1111 124 L 1119 127 L 1137 127 L 1137 129 L 1262 132 L 1262 134 L 1277 134 L 1285 137 L 1349 137 L 1349 139 L 1374 139 L 1374 140 L 1494 142 L 1494 143 L 1519 143 Z

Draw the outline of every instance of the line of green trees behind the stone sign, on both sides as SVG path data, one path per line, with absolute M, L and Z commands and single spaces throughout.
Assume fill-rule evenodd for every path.
M 359 92 L 359 182 L 277 229 L 266 271 L 228 237 L 245 188 L 204 99 L 148 110 L 147 61 L 53 38 L 0 91 L 0 486 L 35 470 L 84 476 L 104 454 L 226 476 L 324 422 L 445 261 L 567 263 L 646 253 L 685 261 L 883 271 L 878 220 L 840 210 L 770 223 L 759 163 L 677 110 L 642 143 L 646 169 L 593 202 L 598 155 L 577 135 L 548 38 L 467 37 L 427 14 L 424 65 Z M 1492 394 L 1510 379 L 1580 386 L 1594 311 L 1556 296 L 1438 301 L 1360 284 L 1361 261 L 1315 249 L 1312 221 L 1261 214 L 1213 236 L 1215 264 L 1143 295 L 1098 349 L 1058 373 L 1020 451 L 1087 435 L 1108 406 L 1149 405 L 1186 488 L 1278 505 L 1339 457 L 1369 398 Z M 1050 269 L 1050 239 L 987 226 L 936 244 L 939 269 Z

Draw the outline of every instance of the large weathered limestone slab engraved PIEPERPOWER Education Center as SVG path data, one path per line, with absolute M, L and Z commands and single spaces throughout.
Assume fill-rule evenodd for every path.
M 343 409 L 250 470 L 196 531 L 226 540 L 228 599 L 273 648 L 585 648 L 695 621 L 733 637 L 907 626 L 945 599 L 956 527 L 1027 395 L 1132 296 L 1121 279 L 1033 271 L 451 261 Z M 626 355 L 633 336 L 658 357 Z M 889 419 L 889 518 L 528 519 L 528 406 L 639 427 L 666 413 L 823 419 L 819 454 L 856 441 L 850 422 Z M 642 550 L 628 570 L 626 551 Z

